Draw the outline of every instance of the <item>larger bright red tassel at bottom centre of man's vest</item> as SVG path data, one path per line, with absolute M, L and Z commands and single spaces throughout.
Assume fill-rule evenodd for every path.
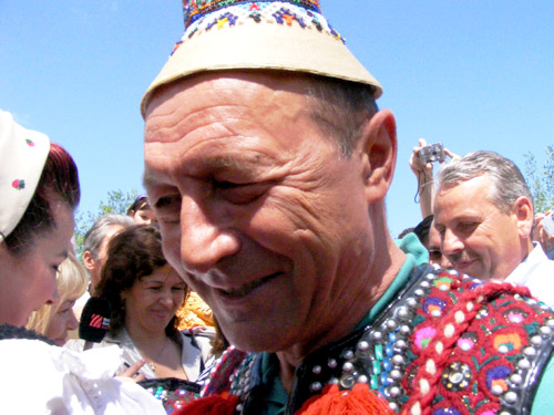
M 387 401 L 358 383 L 351 391 L 327 386 L 324 393 L 306 401 L 295 415 L 394 415 Z

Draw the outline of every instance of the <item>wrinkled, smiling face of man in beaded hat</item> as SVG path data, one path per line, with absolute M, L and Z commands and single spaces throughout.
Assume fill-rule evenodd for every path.
M 150 107 L 145 185 L 164 252 L 233 344 L 311 342 L 371 289 L 363 157 L 322 135 L 300 79 L 215 76 Z

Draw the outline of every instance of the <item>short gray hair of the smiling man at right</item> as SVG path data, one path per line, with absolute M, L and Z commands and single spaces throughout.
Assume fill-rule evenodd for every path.
M 443 163 L 437 172 L 437 187 L 444 188 L 486 175 L 492 183 L 489 200 L 502 212 L 509 214 L 519 197 L 533 204 L 533 195 L 520 168 L 510 159 L 494 152 L 472 152 Z M 534 205 L 533 205 L 534 210 Z

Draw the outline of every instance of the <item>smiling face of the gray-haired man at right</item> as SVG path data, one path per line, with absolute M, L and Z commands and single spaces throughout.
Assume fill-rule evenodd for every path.
M 490 187 L 483 175 L 440 188 L 434 226 L 442 253 L 455 270 L 482 280 L 503 280 L 524 258 L 522 227 L 514 211 L 504 214 L 489 200 Z

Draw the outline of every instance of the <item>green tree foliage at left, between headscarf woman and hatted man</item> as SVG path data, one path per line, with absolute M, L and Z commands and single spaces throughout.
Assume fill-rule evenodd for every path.
M 136 189 L 123 191 L 121 189 L 111 190 L 107 193 L 106 201 L 101 200 L 96 211 L 78 212 L 75 216 L 75 250 L 79 258 L 83 255 L 83 242 L 86 231 L 92 224 L 103 215 L 121 214 L 125 215 L 127 208 L 136 199 L 138 193 Z

